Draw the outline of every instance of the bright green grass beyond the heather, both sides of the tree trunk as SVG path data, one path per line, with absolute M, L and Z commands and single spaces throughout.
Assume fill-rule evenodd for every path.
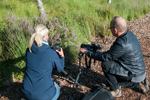
M 77 41 L 88 42 L 92 36 L 108 36 L 107 30 L 111 18 L 115 15 L 130 21 L 140 18 L 150 11 L 149 0 L 42 0 L 48 18 L 57 17 L 61 23 L 73 28 Z M 2 0 L 0 1 L 3 20 L 7 13 L 16 17 L 32 19 L 38 16 L 35 0 Z

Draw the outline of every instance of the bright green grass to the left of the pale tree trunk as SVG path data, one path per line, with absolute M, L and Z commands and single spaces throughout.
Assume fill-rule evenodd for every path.
M 8 13 L 13 13 L 16 17 L 26 18 L 38 15 L 36 10 L 35 0 L 1 0 L 0 1 L 0 11 L 2 21 Z

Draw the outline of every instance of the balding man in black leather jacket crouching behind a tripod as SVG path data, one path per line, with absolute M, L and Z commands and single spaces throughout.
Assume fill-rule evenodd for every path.
M 110 50 L 94 53 L 81 48 L 80 52 L 102 61 L 102 69 L 114 97 L 121 96 L 120 86 L 147 93 L 145 63 L 137 37 L 127 30 L 127 23 L 120 16 L 113 17 L 110 30 L 117 37 Z

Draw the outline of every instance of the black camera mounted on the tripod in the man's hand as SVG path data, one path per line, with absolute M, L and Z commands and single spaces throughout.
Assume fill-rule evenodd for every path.
M 95 44 L 92 44 L 92 45 L 81 44 L 81 48 L 86 48 L 87 50 L 92 51 L 92 52 L 96 52 L 97 50 L 101 49 L 100 45 L 95 45 Z

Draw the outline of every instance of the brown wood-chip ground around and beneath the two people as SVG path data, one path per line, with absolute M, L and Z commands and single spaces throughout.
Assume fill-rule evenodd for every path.
M 142 16 L 140 19 L 135 19 L 133 21 L 128 22 L 128 29 L 132 31 L 141 44 L 142 52 L 144 55 L 144 61 L 146 64 L 146 77 L 150 80 L 150 13 Z M 102 47 L 101 51 L 107 51 L 112 45 L 115 37 L 110 36 L 103 39 L 95 39 L 96 44 L 100 44 Z M 96 61 L 95 63 L 91 62 L 91 68 L 87 69 L 85 65 L 85 56 L 81 59 L 81 66 L 79 63 L 76 63 L 72 66 L 67 67 L 65 70 L 68 74 L 76 79 L 79 69 L 81 68 L 81 75 L 79 77 L 78 83 L 76 84 L 76 88 L 73 88 L 74 82 L 67 76 L 63 74 L 54 72 L 53 78 L 56 80 L 56 83 L 60 86 L 60 97 L 58 100 L 68 100 L 71 96 L 73 100 L 79 100 L 85 93 L 90 91 L 93 87 L 99 86 L 100 82 L 106 83 L 103 71 L 101 69 L 101 62 Z M 94 77 L 96 80 L 94 81 L 92 78 L 86 76 L 89 75 Z M 0 88 L 0 100 L 21 100 L 21 85 L 22 81 L 17 81 L 12 84 L 4 85 Z M 115 98 L 115 100 L 150 100 L 150 92 L 147 94 L 142 94 L 140 92 L 134 91 L 129 88 L 121 88 L 122 96 L 119 98 Z M 71 95 L 72 94 L 72 95 Z

